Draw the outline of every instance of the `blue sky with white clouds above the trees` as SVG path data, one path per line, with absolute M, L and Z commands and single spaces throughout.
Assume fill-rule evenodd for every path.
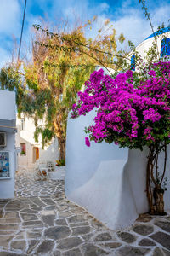
M 155 29 L 162 22 L 167 26 L 170 1 L 145 2 Z M 0 1 L 0 67 L 11 59 L 14 42 L 16 49 L 19 44 L 24 3 L 25 0 Z M 59 25 L 61 20 L 68 20 L 73 24 L 75 16 L 83 22 L 92 19 L 94 15 L 98 16 L 99 26 L 105 19 L 110 19 L 117 34 L 123 32 L 125 38 L 132 40 L 134 44 L 139 44 L 151 33 L 139 0 L 27 0 L 21 56 L 28 49 L 32 24 L 40 24 L 42 18 Z M 94 34 L 97 28 L 94 27 Z

